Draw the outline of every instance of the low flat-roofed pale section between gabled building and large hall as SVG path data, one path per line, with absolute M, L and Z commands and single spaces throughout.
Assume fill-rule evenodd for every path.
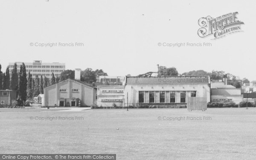
M 99 107 L 123 107 L 123 85 L 100 85 L 97 87 L 97 105 Z

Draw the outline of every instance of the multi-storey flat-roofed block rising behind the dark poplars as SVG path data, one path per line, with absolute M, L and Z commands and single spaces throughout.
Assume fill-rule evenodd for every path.
M 20 72 L 20 65 L 22 62 L 15 62 L 17 64 L 17 72 Z M 12 70 L 15 63 L 9 63 L 10 76 L 12 76 Z M 33 61 L 32 63 L 24 62 L 26 65 L 27 74 L 30 72 L 32 77 L 35 78 L 36 75 L 46 76 L 51 78 L 52 73 L 54 76 L 60 76 L 61 72 L 65 70 L 65 63 L 42 63 L 42 61 Z

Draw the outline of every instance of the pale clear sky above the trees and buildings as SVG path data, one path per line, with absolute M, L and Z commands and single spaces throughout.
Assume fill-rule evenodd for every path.
M 60 62 L 109 76 L 156 72 L 159 64 L 179 73 L 223 70 L 256 80 L 255 8 L 253 0 L 1 0 L 0 64 L 5 71 L 15 61 Z M 243 32 L 215 40 L 198 36 L 199 18 L 230 12 L 239 12 Z M 57 45 L 39 46 L 47 43 Z

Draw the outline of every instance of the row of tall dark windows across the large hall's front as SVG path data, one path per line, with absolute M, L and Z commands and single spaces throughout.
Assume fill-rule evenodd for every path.
M 191 91 L 191 97 L 196 96 L 196 91 Z M 170 91 L 170 103 L 175 103 L 175 91 Z M 145 91 L 139 91 L 139 103 L 144 103 Z M 165 103 L 166 91 L 160 91 L 160 103 Z M 186 91 L 180 91 L 180 102 L 186 102 Z M 149 91 L 149 103 L 155 103 L 155 91 Z

